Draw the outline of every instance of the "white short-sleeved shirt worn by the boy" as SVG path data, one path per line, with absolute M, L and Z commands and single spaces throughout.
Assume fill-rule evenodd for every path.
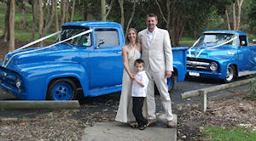
M 148 76 L 145 71 L 138 72 L 136 74 L 137 79 L 143 83 L 144 87 L 141 87 L 135 80 L 132 81 L 131 97 L 146 97 L 148 87 Z

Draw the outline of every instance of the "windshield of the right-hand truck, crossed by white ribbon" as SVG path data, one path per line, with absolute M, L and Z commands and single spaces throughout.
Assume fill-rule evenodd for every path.
M 207 33 L 207 34 L 203 34 L 202 35 L 202 37 L 201 37 L 201 44 L 217 45 L 217 44 L 221 44 L 221 43 L 224 43 L 224 42 L 228 42 L 233 37 L 235 37 L 234 34 Z M 236 44 L 236 40 L 233 40 L 232 42 L 228 42 L 227 44 L 235 45 Z

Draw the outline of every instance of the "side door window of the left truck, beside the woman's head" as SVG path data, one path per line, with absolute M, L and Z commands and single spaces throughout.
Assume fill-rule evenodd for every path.
M 119 34 L 115 29 L 96 29 L 96 46 L 99 46 L 100 41 L 103 43 L 100 44 L 100 47 L 113 47 L 119 46 Z

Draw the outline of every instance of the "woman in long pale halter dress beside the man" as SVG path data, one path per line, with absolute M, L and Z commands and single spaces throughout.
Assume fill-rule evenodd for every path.
M 141 57 L 141 51 L 141 44 L 137 41 L 137 31 L 131 28 L 126 36 L 125 46 L 122 48 L 122 58 L 125 69 L 123 72 L 119 110 L 115 117 L 115 121 L 129 122 L 131 127 L 136 127 L 136 119 L 132 113 L 131 82 L 136 74 L 134 61 Z

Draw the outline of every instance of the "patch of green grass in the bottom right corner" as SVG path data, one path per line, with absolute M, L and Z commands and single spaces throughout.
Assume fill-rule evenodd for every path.
M 207 127 L 203 134 L 211 141 L 254 141 L 256 138 L 256 133 L 245 127 Z

